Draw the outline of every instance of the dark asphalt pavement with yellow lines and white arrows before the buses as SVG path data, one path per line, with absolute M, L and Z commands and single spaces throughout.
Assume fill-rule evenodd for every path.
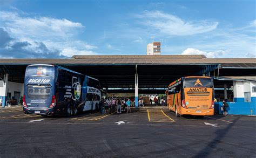
M 0 157 L 256 157 L 256 117 L 166 108 L 66 118 L 0 108 Z

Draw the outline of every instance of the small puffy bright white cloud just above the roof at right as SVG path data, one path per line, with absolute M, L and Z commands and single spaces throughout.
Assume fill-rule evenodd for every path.
M 201 51 L 201 50 L 194 49 L 194 48 L 188 48 L 188 49 L 184 50 L 181 54 L 183 54 L 183 55 L 201 54 L 201 55 L 205 55 L 207 58 L 220 58 L 221 56 L 223 56 L 225 54 L 225 51 L 218 50 L 218 51 L 213 51 L 213 52 L 205 52 L 205 51 Z

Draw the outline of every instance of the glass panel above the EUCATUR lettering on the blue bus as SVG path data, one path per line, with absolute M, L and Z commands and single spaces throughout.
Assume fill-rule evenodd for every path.
M 53 77 L 53 66 L 29 66 L 26 70 L 26 76 L 48 76 Z

